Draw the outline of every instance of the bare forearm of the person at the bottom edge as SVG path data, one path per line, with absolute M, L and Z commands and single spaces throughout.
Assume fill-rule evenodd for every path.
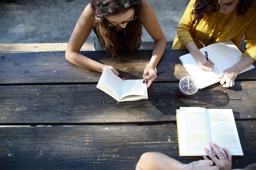
M 182 170 L 184 164 L 162 153 L 144 153 L 137 163 L 136 170 Z

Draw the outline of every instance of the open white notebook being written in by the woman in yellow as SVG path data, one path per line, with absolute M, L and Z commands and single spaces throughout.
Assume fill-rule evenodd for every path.
M 201 70 L 191 54 L 185 54 L 179 57 L 180 61 L 186 68 L 186 71 L 189 73 L 189 75 L 197 80 L 199 89 L 205 88 L 216 82 L 220 82 L 220 79 L 218 77 L 221 72 L 227 68 L 232 67 L 242 58 L 241 51 L 231 40 L 217 42 L 208 45 L 207 47 L 204 46 L 200 49 L 200 51 L 202 54 L 204 54 L 204 51 L 207 51 L 209 59 L 211 59 L 212 62 L 215 63 L 212 71 Z M 253 65 L 249 65 L 247 68 L 244 68 L 244 70 L 242 70 L 239 74 L 253 68 Z

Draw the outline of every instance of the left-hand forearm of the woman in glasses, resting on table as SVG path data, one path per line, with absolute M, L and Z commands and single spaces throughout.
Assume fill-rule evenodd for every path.
M 96 62 L 93 59 L 90 59 L 90 58 L 80 54 L 79 52 L 66 51 L 65 57 L 69 62 L 71 62 L 75 65 L 78 65 L 81 68 L 86 68 L 86 69 L 98 71 L 101 73 L 106 66 L 104 64 Z

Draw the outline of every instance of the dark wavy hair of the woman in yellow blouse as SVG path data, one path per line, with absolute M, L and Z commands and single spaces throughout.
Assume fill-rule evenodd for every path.
M 240 0 L 236 6 L 237 17 L 244 17 L 245 12 L 252 6 L 254 0 Z M 207 19 L 209 14 L 218 11 L 220 0 L 196 0 L 191 14 L 194 15 L 192 25 L 200 23 L 202 19 Z

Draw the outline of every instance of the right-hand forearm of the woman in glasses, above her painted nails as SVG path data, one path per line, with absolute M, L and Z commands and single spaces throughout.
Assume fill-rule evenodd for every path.
M 166 48 L 166 39 L 165 38 L 156 41 L 154 44 L 152 57 L 147 66 L 150 66 L 155 69 L 157 67 L 158 62 L 160 61 L 160 59 L 163 56 L 165 48 Z

